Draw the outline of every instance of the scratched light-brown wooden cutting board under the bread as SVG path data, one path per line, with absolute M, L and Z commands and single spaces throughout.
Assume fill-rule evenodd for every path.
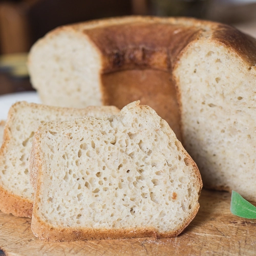
M 256 255 L 256 220 L 233 216 L 230 194 L 203 190 L 200 210 L 177 238 L 50 243 L 38 240 L 30 219 L 0 212 L 1 255 Z

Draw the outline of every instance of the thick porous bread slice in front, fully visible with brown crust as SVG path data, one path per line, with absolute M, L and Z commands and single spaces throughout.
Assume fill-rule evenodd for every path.
M 199 209 L 197 165 L 139 101 L 111 117 L 41 125 L 30 172 L 31 228 L 42 240 L 173 237 Z

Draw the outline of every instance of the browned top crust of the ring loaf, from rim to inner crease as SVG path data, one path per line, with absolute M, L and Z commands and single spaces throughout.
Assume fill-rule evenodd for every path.
M 190 42 L 210 38 L 256 64 L 256 39 L 220 23 L 184 17 L 127 16 L 60 27 L 87 35 L 103 55 L 102 73 L 125 69 L 171 71 Z

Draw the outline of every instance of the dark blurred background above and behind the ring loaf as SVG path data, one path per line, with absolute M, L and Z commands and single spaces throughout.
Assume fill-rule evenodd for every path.
M 256 0 L 0 0 L 0 94 L 33 90 L 27 53 L 48 31 L 122 15 L 197 17 L 236 26 L 256 37 Z

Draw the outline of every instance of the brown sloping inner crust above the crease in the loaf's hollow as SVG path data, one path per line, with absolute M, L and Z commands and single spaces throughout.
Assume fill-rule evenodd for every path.
M 134 23 L 83 30 L 83 33 L 102 54 L 102 73 L 110 73 L 145 68 L 170 71 L 176 57 L 200 30 L 174 24 Z

